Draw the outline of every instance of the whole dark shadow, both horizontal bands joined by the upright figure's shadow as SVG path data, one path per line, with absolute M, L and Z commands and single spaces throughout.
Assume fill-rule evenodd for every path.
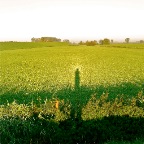
M 143 117 L 109 115 L 101 119 L 82 119 L 82 108 L 87 105 L 93 94 L 100 97 L 104 92 L 109 93 L 108 100 L 113 100 L 122 94 L 126 98 L 130 98 L 136 96 L 140 91 L 143 91 L 143 85 L 132 83 L 107 87 L 97 86 L 96 88 L 80 87 L 80 77 L 77 75 L 75 89 L 67 87 L 56 92 L 38 91 L 29 94 L 26 91 L 16 93 L 13 90 L 4 93 L 0 96 L 0 104 L 3 105 L 13 101 L 18 104 L 29 105 L 33 101 L 38 106 L 44 103 L 46 99 L 63 100 L 65 103 L 70 103 L 70 116 L 68 119 L 56 121 L 51 115 L 43 115 L 43 118 L 40 118 L 39 113 L 33 113 L 31 117 L 26 119 L 16 117 L 0 119 L 1 144 L 98 144 L 108 141 L 133 141 L 137 138 L 144 138 Z

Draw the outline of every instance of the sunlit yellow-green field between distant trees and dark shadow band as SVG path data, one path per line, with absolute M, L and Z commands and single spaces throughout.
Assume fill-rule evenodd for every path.
M 15 45 L 14 50 L 11 50 L 10 44 L 13 48 Z M 3 46 L 0 43 L 1 99 L 7 93 L 13 96 L 19 92 L 30 95 L 73 87 L 77 68 L 80 70 L 81 86 L 104 87 L 103 91 L 110 92 L 111 97 L 118 94 L 136 96 L 144 88 L 143 44 L 127 45 L 127 48 L 125 45 L 117 48 L 115 45 L 88 47 L 53 43 L 46 43 L 45 47 L 44 43 L 38 43 L 41 47 L 35 48 L 35 45 L 5 43 Z

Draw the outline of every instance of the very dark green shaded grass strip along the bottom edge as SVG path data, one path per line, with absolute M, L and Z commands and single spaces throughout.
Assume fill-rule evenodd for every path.
M 109 116 L 102 119 L 54 120 L 30 117 L 1 120 L 1 144 L 102 144 L 144 138 L 144 118 Z

